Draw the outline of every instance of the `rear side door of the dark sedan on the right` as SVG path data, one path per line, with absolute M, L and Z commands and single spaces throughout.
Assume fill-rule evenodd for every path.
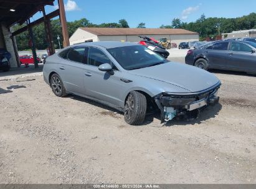
M 227 52 L 228 47 L 229 42 L 217 42 L 204 49 L 204 55 L 206 55 L 209 61 L 209 68 L 222 69 L 226 67 L 227 58 L 229 57 Z

